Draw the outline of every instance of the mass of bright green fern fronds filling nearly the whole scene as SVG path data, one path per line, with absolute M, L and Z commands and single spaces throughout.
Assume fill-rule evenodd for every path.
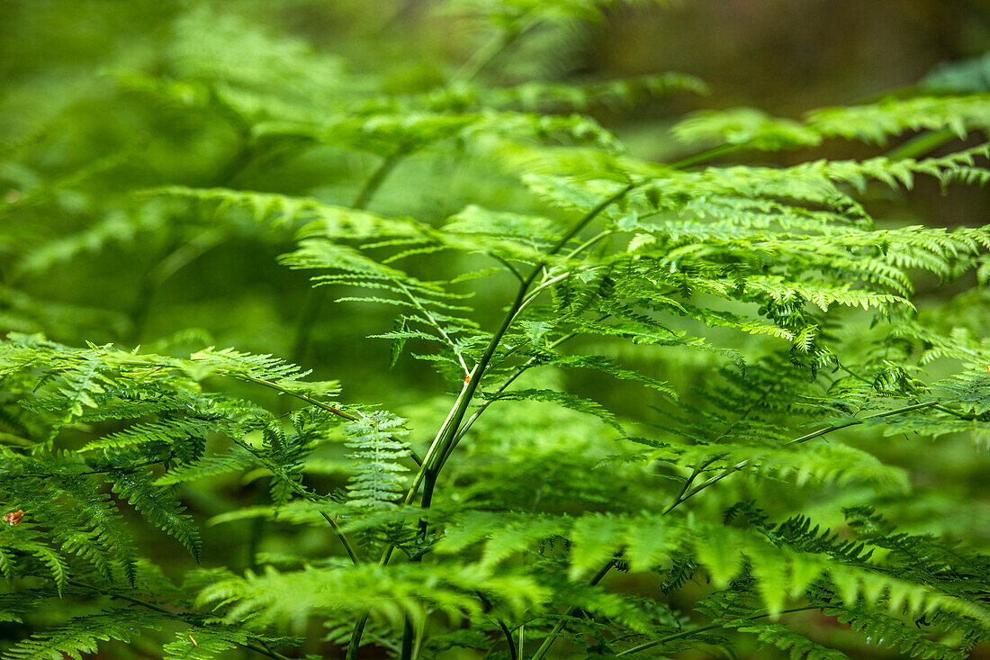
M 990 180 L 976 64 L 697 113 L 662 164 L 592 114 L 692 76 L 485 82 L 620 2 L 443 3 L 493 41 L 413 80 L 257 3 L 165 4 L 110 106 L 0 114 L 3 658 L 857 657 L 823 615 L 896 657 L 990 637 L 990 228 L 876 203 Z M 105 121 L 142 142 L 97 150 Z M 81 159 L 49 137 L 76 133 Z M 837 138 L 871 157 L 714 163 Z M 50 300 L 76 268 L 104 288 Z

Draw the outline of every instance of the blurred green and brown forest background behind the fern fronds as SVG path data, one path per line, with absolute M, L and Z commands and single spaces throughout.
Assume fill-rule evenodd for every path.
M 247 214 L 239 219 L 237 209 L 224 211 L 234 221 L 218 223 L 216 206 L 136 199 L 132 192 L 223 186 L 349 206 L 380 155 L 266 143 L 252 135 L 252 126 L 289 107 L 318 115 L 355 99 L 443 87 L 491 36 L 492 26 L 477 19 L 479 4 L 485 3 L 0 3 L 0 333 L 44 332 L 72 345 L 114 342 L 177 353 L 235 346 L 341 379 L 345 400 L 419 406 L 432 414 L 432 397 L 443 393 L 444 382 L 412 360 L 390 369 L 387 347 L 364 339 L 390 329 L 391 310 L 347 307 L 344 313 L 329 302 L 314 305 L 307 275 L 277 264 L 294 245 L 291 226 L 268 229 Z M 636 2 L 612 6 L 594 21 L 535 30 L 480 77 L 509 85 L 665 71 L 698 76 L 709 93 L 587 108 L 634 155 L 672 162 L 688 150 L 669 129 L 688 113 L 747 106 L 800 118 L 813 108 L 905 93 L 919 84 L 988 91 L 988 51 L 990 3 L 978 0 Z M 814 152 L 733 158 L 791 165 L 865 158 L 895 146 L 831 141 Z M 460 158 L 458 149 L 404 159 L 369 208 L 440 222 L 468 203 L 533 204 L 479 183 L 504 174 Z M 919 181 L 908 194 L 879 192 L 865 202 L 877 215 L 909 224 L 984 225 L 990 196 Z M 427 278 L 449 275 L 429 260 L 419 268 Z M 511 287 L 506 279 L 479 291 L 477 307 L 491 316 L 482 323 L 496 317 Z M 920 294 L 926 294 L 924 283 Z M 977 321 L 990 327 L 990 319 Z M 638 367 L 671 373 L 655 362 Z M 670 376 L 679 389 L 692 378 L 686 368 Z M 568 385 L 594 387 L 580 380 Z M 621 389 L 611 395 L 603 402 L 620 412 L 642 404 Z M 910 446 L 883 451 L 885 460 L 911 470 L 920 487 L 945 494 L 937 510 L 911 510 L 902 502 L 902 521 L 916 530 L 961 534 L 983 547 L 990 543 L 985 453 L 974 458 L 968 441 L 944 443 L 937 461 Z M 946 484 L 977 504 L 956 510 Z M 191 506 L 206 517 L 256 495 L 251 488 L 220 484 Z M 250 530 L 211 533 L 217 536 L 207 538 L 206 565 L 224 560 L 210 553 L 223 552 L 225 534 L 247 538 Z M 158 559 L 167 564 L 169 552 L 163 548 Z M 246 555 L 240 567 L 252 561 Z M 898 657 L 857 646 L 851 633 L 811 616 L 808 624 L 823 635 L 848 637 L 854 657 Z M 972 657 L 990 655 L 974 651 Z

